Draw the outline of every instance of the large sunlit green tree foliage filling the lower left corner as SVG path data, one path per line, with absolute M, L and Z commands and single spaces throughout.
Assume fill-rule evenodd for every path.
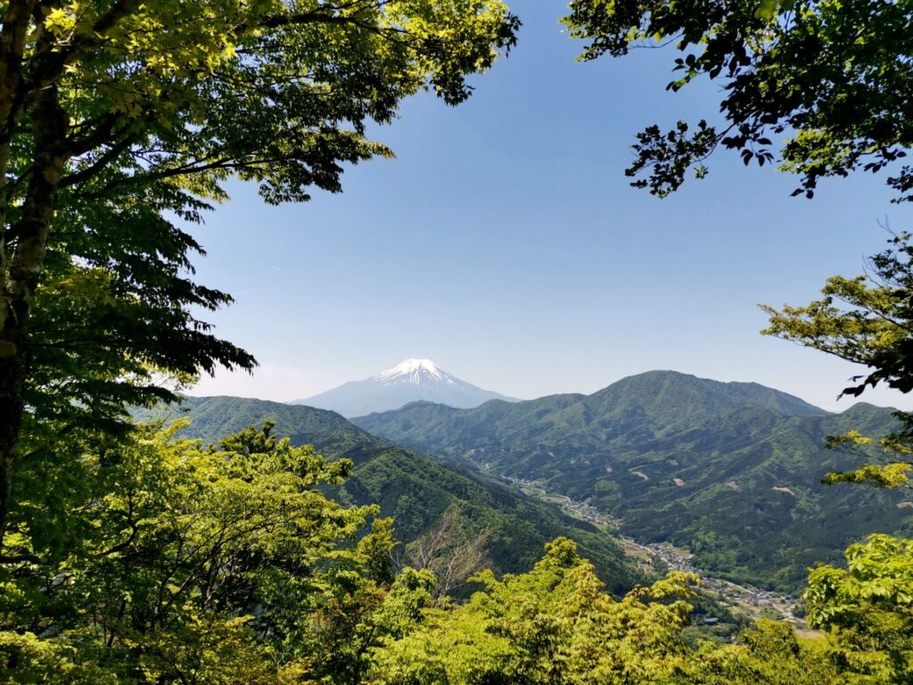
M 270 428 L 218 449 L 173 440 L 174 428 L 142 431 L 83 453 L 65 544 L 41 529 L 10 541 L 3 680 L 352 680 L 383 635 L 373 621 L 395 623 L 408 612 L 396 606 L 402 588 L 421 597 L 433 578 L 394 583 L 391 522 L 359 539 L 376 508 L 320 492 L 351 462 L 327 463 Z

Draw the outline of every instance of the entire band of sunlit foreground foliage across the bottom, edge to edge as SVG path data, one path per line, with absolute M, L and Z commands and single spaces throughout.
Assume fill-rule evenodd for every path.
M 693 574 L 615 599 L 559 538 L 528 573 L 483 571 L 466 603 L 436 598 L 430 571 L 394 574 L 389 519 L 322 493 L 348 473 L 347 460 L 328 463 L 277 440 L 269 424 L 218 448 L 175 438 L 178 427 L 144 428 L 127 442 L 73 441 L 80 486 L 61 490 L 68 535 L 41 525 L 42 504 L 32 502 L 36 525 L 16 533 L 15 555 L 0 566 L 0 681 L 875 685 L 910 677 L 908 541 L 874 537 L 851 548 L 849 571 L 813 572 L 809 613 L 825 638 L 799 639 L 766 621 L 735 644 L 695 644 Z

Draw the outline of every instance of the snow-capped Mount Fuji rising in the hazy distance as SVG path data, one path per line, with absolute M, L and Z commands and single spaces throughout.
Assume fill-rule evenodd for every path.
M 430 359 L 406 359 L 371 378 L 351 381 L 291 404 L 331 409 L 342 416 L 365 416 L 399 409 L 417 400 L 471 409 L 489 399 L 518 401 L 461 381 Z

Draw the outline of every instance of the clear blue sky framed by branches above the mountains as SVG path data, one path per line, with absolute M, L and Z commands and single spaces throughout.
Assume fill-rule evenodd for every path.
M 667 93 L 663 50 L 576 62 L 561 2 L 511 7 L 519 46 L 467 103 L 420 96 L 373 131 L 395 160 L 303 205 L 233 184 L 194 227 L 199 279 L 236 298 L 208 320 L 261 364 L 194 394 L 290 400 L 418 356 L 522 398 L 675 369 L 852 404 L 835 397 L 861 369 L 761 337 L 757 303 L 812 300 L 885 247 L 879 222 L 907 228 L 884 176 L 824 183 L 810 201 L 789 196 L 794 177 L 721 151 L 706 180 L 665 200 L 635 190 L 623 173 L 635 132 L 712 119 L 718 86 Z

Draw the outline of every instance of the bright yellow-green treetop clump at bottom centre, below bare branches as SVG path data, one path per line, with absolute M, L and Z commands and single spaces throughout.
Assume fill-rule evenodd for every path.
M 696 578 L 670 574 L 622 601 L 559 539 L 528 574 L 479 574 L 467 606 L 425 612 L 404 638 L 375 650 L 373 678 L 390 683 L 661 681 L 680 667 Z

